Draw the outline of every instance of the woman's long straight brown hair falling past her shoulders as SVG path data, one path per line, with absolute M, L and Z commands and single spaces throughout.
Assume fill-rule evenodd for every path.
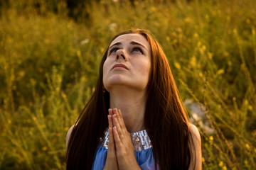
M 154 159 L 160 169 L 188 169 L 191 162 L 188 117 L 178 97 L 178 89 L 169 62 L 159 42 L 147 30 L 132 29 L 114 36 L 137 33 L 143 35 L 151 47 L 151 73 L 147 86 L 148 98 L 144 123 L 153 146 Z M 111 41 L 112 42 L 112 41 Z M 67 169 L 92 169 L 94 155 L 107 123 L 110 94 L 104 91 L 103 64 L 95 91 L 80 114 L 70 135 Z

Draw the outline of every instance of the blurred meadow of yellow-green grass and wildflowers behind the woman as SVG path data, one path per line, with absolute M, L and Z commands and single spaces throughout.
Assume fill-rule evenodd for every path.
M 113 35 L 153 33 L 203 169 L 256 167 L 255 0 L 1 0 L 0 169 L 65 169 L 65 135 Z M 92 154 L 93 157 L 93 154 Z

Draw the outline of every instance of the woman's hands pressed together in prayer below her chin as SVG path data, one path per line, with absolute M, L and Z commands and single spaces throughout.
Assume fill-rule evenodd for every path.
M 109 143 L 104 169 L 140 169 L 134 154 L 134 146 L 121 111 L 110 108 L 107 115 L 109 122 Z

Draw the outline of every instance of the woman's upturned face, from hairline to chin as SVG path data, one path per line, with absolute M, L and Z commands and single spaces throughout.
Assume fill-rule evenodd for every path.
M 146 90 L 151 68 L 149 42 L 139 34 L 125 34 L 115 38 L 103 65 L 103 84 L 107 91 L 126 86 Z

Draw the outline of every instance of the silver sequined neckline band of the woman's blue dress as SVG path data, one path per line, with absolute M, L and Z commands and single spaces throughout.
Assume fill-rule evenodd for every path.
M 108 128 L 105 130 L 104 137 L 100 137 L 100 144 L 107 149 L 107 144 L 109 142 L 108 138 L 109 132 Z M 151 140 L 146 130 L 139 130 L 137 132 L 130 132 L 132 144 L 134 145 L 134 151 L 142 151 L 152 147 Z

